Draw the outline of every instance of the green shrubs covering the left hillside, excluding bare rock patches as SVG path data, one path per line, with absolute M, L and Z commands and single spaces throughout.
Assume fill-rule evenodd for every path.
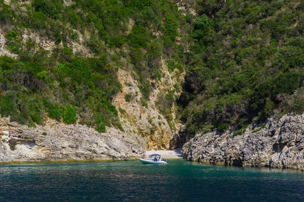
M 44 124 L 49 116 L 67 124 L 78 120 L 100 132 L 105 126 L 123 130 L 111 104 L 121 88 L 118 68 L 135 72 L 147 106 L 150 80 L 162 77 L 162 58 L 170 71 L 183 71 L 184 47 L 176 38 L 191 32 L 186 19 L 193 16 L 181 16 L 176 3 L 166 0 L 75 0 L 70 5 L 0 0 L 5 47 L 18 58 L 0 57 L 0 114 L 30 126 Z M 54 41 L 53 48 L 40 47 L 30 34 Z M 75 42 L 83 45 L 81 51 L 72 49 Z M 167 97 L 165 103 L 174 100 L 172 93 Z

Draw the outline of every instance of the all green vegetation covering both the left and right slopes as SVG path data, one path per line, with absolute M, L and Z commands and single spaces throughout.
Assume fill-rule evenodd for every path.
M 197 16 L 182 15 L 178 6 L 185 5 Z M 147 107 L 163 62 L 169 72 L 186 73 L 177 103 L 189 133 L 215 127 L 239 134 L 252 121 L 304 111 L 302 0 L 13 0 L 10 6 L 0 0 L 0 23 L 6 48 L 18 57 L 0 58 L 0 114 L 23 124 L 43 124 L 49 116 L 100 132 L 123 130 L 111 104 L 121 88 L 118 68 L 133 71 Z M 24 37 L 29 33 L 54 41 L 52 51 Z M 72 49 L 75 42 L 81 51 Z M 179 86 L 173 87 L 156 103 L 168 121 Z

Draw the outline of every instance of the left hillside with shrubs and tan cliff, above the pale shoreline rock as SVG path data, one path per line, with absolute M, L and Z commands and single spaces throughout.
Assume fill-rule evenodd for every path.
M 194 19 L 179 10 L 167 0 L 0 1 L 1 116 L 112 127 L 148 148 L 175 147 Z

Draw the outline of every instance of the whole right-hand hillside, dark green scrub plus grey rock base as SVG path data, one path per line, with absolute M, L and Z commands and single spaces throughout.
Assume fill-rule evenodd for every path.
M 184 155 L 304 168 L 304 2 L 197 1 L 183 92 Z

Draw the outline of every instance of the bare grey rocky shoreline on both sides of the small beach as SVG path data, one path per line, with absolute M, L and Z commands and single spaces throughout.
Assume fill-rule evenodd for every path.
M 115 128 L 105 133 L 48 120 L 36 128 L 0 118 L 0 163 L 134 160 L 147 140 Z M 197 134 L 183 145 L 188 161 L 234 166 L 304 169 L 304 114 L 252 124 L 243 134 Z

